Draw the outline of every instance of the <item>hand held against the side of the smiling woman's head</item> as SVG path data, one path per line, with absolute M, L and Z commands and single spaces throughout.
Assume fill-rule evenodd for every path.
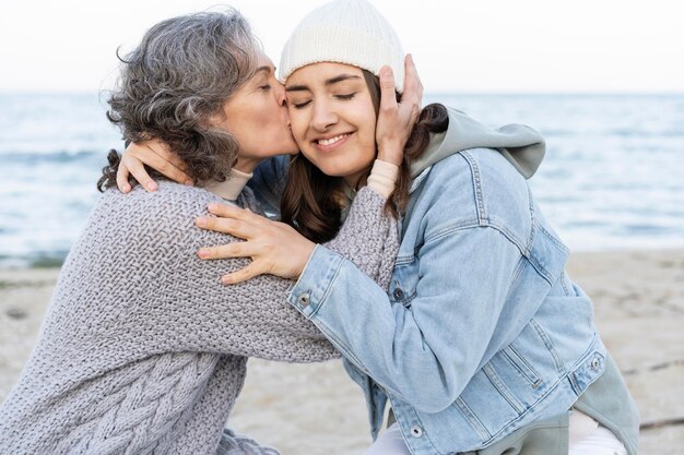
M 397 166 L 403 160 L 403 149 L 421 113 L 423 99 L 423 85 L 411 55 L 404 60 L 404 91 L 398 103 L 391 68 L 380 69 L 380 113 L 376 127 L 378 159 Z

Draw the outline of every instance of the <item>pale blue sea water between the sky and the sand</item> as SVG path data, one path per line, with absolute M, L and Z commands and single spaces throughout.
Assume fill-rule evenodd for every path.
M 573 250 L 684 247 L 684 95 L 431 95 L 546 137 L 530 184 Z M 0 267 L 59 264 L 121 149 L 92 95 L 0 94 Z

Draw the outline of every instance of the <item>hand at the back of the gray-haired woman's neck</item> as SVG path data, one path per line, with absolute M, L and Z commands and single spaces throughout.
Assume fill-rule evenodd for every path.
M 122 193 L 128 193 L 131 185 L 129 176 L 142 184 L 148 191 L 157 189 L 156 182 L 152 180 L 145 165 L 157 170 L 173 181 L 184 184 L 192 184 L 192 179 L 185 172 L 185 164 L 174 155 L 165 143 L 157 140 L 131 142 L 123 155 L 117 170 L 117 187 Z M 134 183 L 133 183 L 134 184 Z

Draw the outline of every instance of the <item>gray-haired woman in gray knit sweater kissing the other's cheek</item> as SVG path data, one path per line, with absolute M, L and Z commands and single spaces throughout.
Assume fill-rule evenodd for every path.
M 129 141 L 152 136 L 174 146 L 199 188 L 163 182 L 154 194 L 105 191 L 62 267 L 22 376 L 0 407 L 0 452 L 276 454 L 223 431 L 247 356 L 310 362 L 339 354 L 287 306 L 291 282 L 268 276 L 222 287 L 219 271 L 246 261 L 197 258 L 200 247 L 225 243 L 226 236 L 193 220 L 212 227 L 215 218 L 201 215 L 225 199 L 259 211 L 241 188 L 245 172 L 297 149 L 284 91 L 234 11 L 164 21 L 122 63 L 110 120 Z M 412 119 L 405 105 L 396 107 L 377 141 L 399 164 Z M 118 156 L 109 159 L 101 188 L 114 185 Z M 369 187 L 328 246 L 387 286 L 387 258 L 398 242 L 380 193 L 391 192 L 393 181 Z

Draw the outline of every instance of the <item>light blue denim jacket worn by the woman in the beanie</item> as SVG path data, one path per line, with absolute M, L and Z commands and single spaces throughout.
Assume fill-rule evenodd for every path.
M 323 247 L 290 295 L 345 357 L 374 436 L 389 399 L 413 454 L 480 450 L 566 414 L 603 373 L 567 249 L 499 152 L 421 173 L 401 239 L 389 295 Z

